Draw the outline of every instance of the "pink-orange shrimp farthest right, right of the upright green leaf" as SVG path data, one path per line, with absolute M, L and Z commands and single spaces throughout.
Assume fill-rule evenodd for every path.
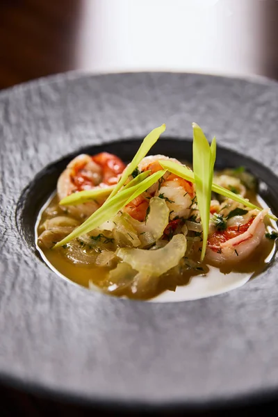
M 254 252 L 265 236 L 263 222 L 268 208 L 260 211 L 245 224 L 227 227 L 208 236 L 206 260 L 210 263 L 238 263 Z

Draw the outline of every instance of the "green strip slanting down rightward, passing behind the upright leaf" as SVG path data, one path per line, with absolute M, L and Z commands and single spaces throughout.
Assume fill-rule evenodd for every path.
M 176 162 L 164 161 L 164 160 L 159 161 L 159 164 L 165 170 L 168 170 L 172 172 L 173 174 L 176 174 L 178 177 L 184 178 L 187 181 L 195 183 L 194 172 L 190 171 L 188 167 L 185 167 L 184 165 L 179 165 Z M 218 186 L 215 183 L 212 183 L 211 190 L 213 190 L 215 193 L 218 193 L 220 195 L 224 195 L 224 197 L 234 200 L 234 202 L 241 203 L 245 207 L 253 208 L 259 211 L 263 210 L 263 208 L 255 206 L 254 204 L 250 203 L 250 201 L 248 201 L 247 199 L 240 197 L 240 195 L 232 193 L 232 191 L 227 190 L 224 187 Z M 267 216 L 272 220 L 275 220 L 275 221 L 278 220 L 277 217 L 271 213 L 268 213 Z

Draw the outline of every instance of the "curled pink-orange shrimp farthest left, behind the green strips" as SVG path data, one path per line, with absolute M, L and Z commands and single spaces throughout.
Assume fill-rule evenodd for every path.
M 120 158 L 107 152 L 101 152 L 95 156 L 86 154 L 76 156 L 58 179 L 59 201 L 77 191 L 91 190 L 95 187 L 106 187 L 117 183 L 125 166 Z M 103 203 L 104 200 L 98 200 L 97 202 L 79 204 L 79 206 L 61 208 L 74 216 L 88 217 Z

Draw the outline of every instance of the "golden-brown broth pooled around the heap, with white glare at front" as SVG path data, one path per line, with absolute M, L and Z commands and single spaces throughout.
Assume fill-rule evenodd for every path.
M 248 195 L 254 204 L 265 206 L 261 199 L 257 199 L 255 195 Z M 261 203 L 261 204 L 260 204 Z M 42 224 L 49 218 L 47 209 L 55 209 L 57 215 L 67 213 L 61 211 L 58 207 L 58 199 L 55 195 L 49 199 L 49 202 L 42 208 L 37 226 L 36 236 L 40 234 Z M 72 216 L 69 216 L 72 217 Z M 273 226 L 273 224 L 272 224 Z M 38 240 L 36 237 L 36 240 Z M 160 279 L 154 282 L 153 288 L 148 288 L 146 293 L 134 294 L 130 287 L 116 290 L 110 293 L 111 295 L 125 296 L 133 299 L 149 300 L 154 299 L 160 301 L 181 301 L 181 300 L 195 300 L 197 298 L 208 297 L 224 293 L 233 288 L 245 284 L 250 278 L 258 275 L 266 267 L 266 259 L 268 259 L 274 249 L 273 240 L 264 239 L 263 243 L 259 245 L 252 257 L 245 259 L 244 262 L 238 263 L 236 268 L 218 268 L 211 265 L 200 264 L 199 267 L 203 270 L 193 270 L 189 268 L 181 275 L 173 275 L 166 273 Z M 46 263 L 50 268 L 60 273 L 64 277 L 74 281 L 76 284 L 90 288 L 90 286 L 97 286 L 103 288 L 106 293 L 108 286 L 108 272 L 109 268 L 99 267 L 95 265 L 79 265 L 72 263 L 65 256 L 65 250 L 60 247 L 56 250 L 41 249 L 38 250 L 44 257 Z M 112 268 L 111 268 L 112 269 Z M 113 283 L 111 283 L 113 284 Z M 174 292 L 175 291 L 175 292 Z

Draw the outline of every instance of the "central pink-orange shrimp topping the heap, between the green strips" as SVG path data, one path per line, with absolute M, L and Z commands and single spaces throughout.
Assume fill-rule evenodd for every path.
M 177 159 L 167 158 L 164 155 L 146 156 L 138 165 L 138 170 L 151 171 L 151 174 L 161 170 L 162 167 L 158 163 L 160 159 L 170 160 L 181 164 Z M 186 181 L 175 174 L 166 172 L 163 177 L 150 187 L 145 193 L 134 199 L 124 208 L 136 220 L 143 221 L 147 215 L 149 207 L 149 199 L 151 197 L 160 197 L 165 199 L 170 209 L 170 220 L 178 217 L 188 218 L 191 208 L 195 203 L 195 189 L 193 183 Z

